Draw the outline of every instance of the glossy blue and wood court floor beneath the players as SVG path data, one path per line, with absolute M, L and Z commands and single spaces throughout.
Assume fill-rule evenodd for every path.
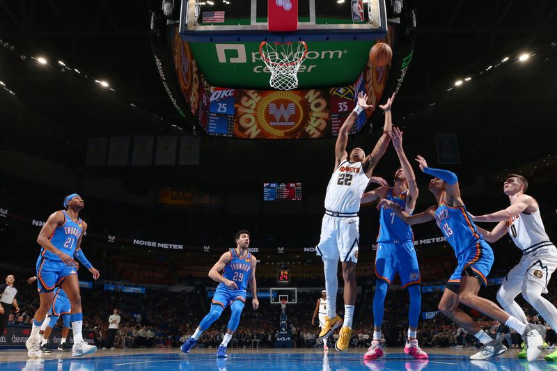
M 86 358 L 72 358 L 71 352 L 53 352 L 40 359 L 27 358 L 24 349 L 0 351 L 0 370 L 365 370 L 365 371 L 541 371 L 557 370 L 557 363 L 540 358 L 528 363 L 516 358 L 517 349 L 489 361 L 470 361 L 473 349 L 427 348 L 427 361 L 407 356 L 402 348 L 386 348 L 386 356 L 376 361 L 363 361 L 365 349 L 350 349 L 340 354 L 331 349 L 324 354 L 321 349 L 229 349 L 228 358 L 217 359 L 216 349 L 192 349 L 182 354 L 180 349 L 101 349 Z

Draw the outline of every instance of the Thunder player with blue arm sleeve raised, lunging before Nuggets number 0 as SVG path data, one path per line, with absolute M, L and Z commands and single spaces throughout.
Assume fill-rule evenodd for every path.
M 487 284 L 486 277 L 494 260 L 493 251 L 483 236 L 478 233 L 476 225 L 466 211 L 464 202 L 460 198 L 457 175 L 450 171 L 428 168 L 427 162 L 421 156 L 418 156 L 416 161 L 424 173 L 434 176 L 429 189 L 437 200 L 437 206 L 410 216 L 389 200 L 382 200 L 379 205 L 391 208 L 400 219 L 409 225 L 431 220 L 437 221 L 437 226 L 445 235 L 450 246 L 453 247 L 458 265 L 450 276 L 443 297 L 439 301 L 439 311 L 464 327 L 483 344 L 480 352 L 470 356 L 470 359 L 483 360 L 499 356 L 507 348 L 501 344 L 501 338 L 494 340 L 466 312 L 458 308 L 459 303 L 476 309 L 487 317 L 496 319 L 501 324 L 522 334 L 526 347 L 529 348 L 528 361 L 533 361 L 540 355 L 545 327 L 521 322 L 492 301 L 478 297 L 481 285 Z

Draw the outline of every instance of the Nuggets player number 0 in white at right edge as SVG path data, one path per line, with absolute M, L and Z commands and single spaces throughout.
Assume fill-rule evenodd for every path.
M 538 310 L 538 313 L 549 322 L 552 329 L 557 329 L 557 308 L 542 297 L 547 294 L 547 283 L 557 268 L 557 249 L 549 241 L 545 232 L 540 206 L 531 196 L 524 194 L 528 188 L 526 179 L 517 174 L 509 174 L 503 183 L 503 192 L 509 196 L 510 206 L 492 214 L 473 216 L 473 221 L 499 221 L 495 228 L 488 232 L 482 228 L 487 242 L 495 242 L 505 234 L 509 234 L 522 251 L 520 262 L 512 268 L 497 292 L 497 301 L 507 313 L 526 322 L 524 310 L 515 298 L 519 293 Z M 520 352 L 519 358 L 526 358 L 526 350 Z M 547 361 L 557 361 L 557 351 L 545 357 Z

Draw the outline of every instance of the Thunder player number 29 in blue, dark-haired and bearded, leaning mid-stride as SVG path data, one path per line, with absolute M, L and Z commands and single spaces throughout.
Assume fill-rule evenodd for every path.
M 249 283 L 251 287 L 251 307 L 253 310 L 259 308 L 257 299 L 257 283 L 256 283 L 256 257 L 251 255 L 248 250 L 249 231 L 240 230 L 236 232 L 234 237 L 236 247 L 230 251 L 223 253 L 221 258 L 209 271 L 209 277 L 219 282 L 217 290 L 214 292 L 211 310 L 203 319 L 197 329 L 180 349 L 184 353 L 189 353 L 193 348 L 199 336 L 203 331 L 207 330 L 213 322 L 221 316 L 224 308 L 230 306 L 230 320 L 228 321 L 228 329 L 217 348 L 217 358 L 226 358 L 226 347 L 228 342 L 240 324 L 240 315 L 246 303 L 246 288 Z M 222 273 L 221 273 L 222 272 Z

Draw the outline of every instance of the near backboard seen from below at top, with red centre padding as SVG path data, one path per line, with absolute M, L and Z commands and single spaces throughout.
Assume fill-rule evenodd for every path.
M 269 3 L 297 1 L 297 30 L 269 30 Z M 188 41 L 377 40 L 386 33 L 384 0 L 182 0 Z

